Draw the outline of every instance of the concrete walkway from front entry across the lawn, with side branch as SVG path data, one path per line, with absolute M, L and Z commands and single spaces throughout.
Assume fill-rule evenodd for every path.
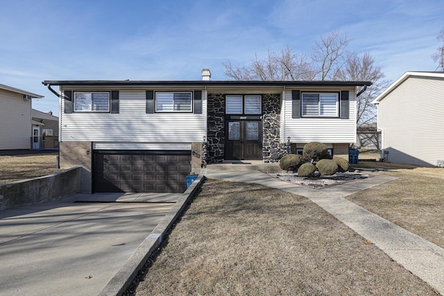
M 396 179 L 395 177 L 373 174 L 373 177 L 364 180 L 316 190 L 284 182 L 259 171 L 246 172 L 237 169 L 236 166 L 233 166 L 231 170 L 227 168 L 229 166 L 221 169 L 218 166 L 209 165 L 205 176 L 217 180 L 262 184 L 305 196 L 357 234 L 377 245 L 394 261 L 403 265 L 413 275 L 420 277 L 444 295 L 444 249 L 442 247 L 434 245 L 344 198 L 373 186 L 391 182 Z

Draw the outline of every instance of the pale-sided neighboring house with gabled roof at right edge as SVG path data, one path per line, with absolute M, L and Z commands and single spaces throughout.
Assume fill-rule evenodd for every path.
M 444 159 L 444 72 L 406 72 L 373 103 L 386 161 L 436 166 Z

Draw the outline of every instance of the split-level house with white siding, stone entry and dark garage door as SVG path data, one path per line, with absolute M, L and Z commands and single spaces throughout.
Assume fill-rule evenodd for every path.
M 60 166 L 85 167 L 88 192 L 183 192 L 205 162 L 278 162 L 310 141 L 348 159 L 357 86 L 371 85 L 210 81 L 207 69 L 198 81 L 42 83 L 60 96 Z

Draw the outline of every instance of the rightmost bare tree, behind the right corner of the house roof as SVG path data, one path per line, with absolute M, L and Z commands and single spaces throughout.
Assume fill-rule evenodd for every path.
M 375 65 L 375 58 L 369 53 L 364 53 L 361 56 L 357 53 L 348 55 L 345 64 L 337 72 L 336 78 L 338 80 L 373 82 L 373 85 L 367 87 L 366 92 L 357 98 L 358 126 L 376 121 L 377 107 L 371 102 L 390 84 L 390 80 L 384 80 L 384 77 L 381 67 Z M 358 87 L 357 92 L 360 92 L 361 89 L 362 87 Z

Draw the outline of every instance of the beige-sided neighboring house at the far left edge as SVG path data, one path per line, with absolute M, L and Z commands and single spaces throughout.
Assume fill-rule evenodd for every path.
M 0 85 L 0 150 L 35 148 L 40 131 L 31 123 L 33 98 L 43 96 Z

